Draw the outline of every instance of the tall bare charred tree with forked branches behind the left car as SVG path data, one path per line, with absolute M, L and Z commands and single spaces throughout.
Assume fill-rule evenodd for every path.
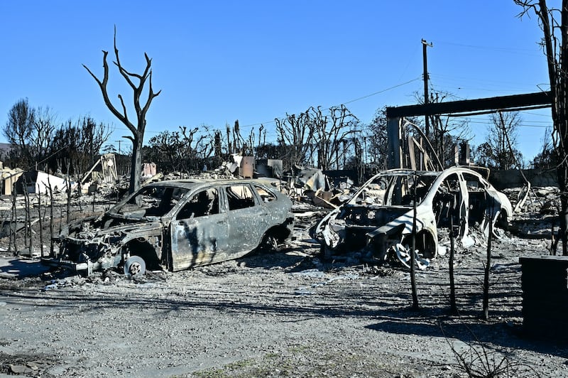
M 126 104 L 124 104 L 124 99 L 122 95 L 118 95 L 120 104 L 121 104 L 121 111 L 114 107 L 112 104 L 109 94 L 107 92 L 107 83 L 109 82 L 109 64 L 107 63 L 107 55 L 109 55 L 108 51 L 103 50 L 103 68 L 104 68 L 104 76 L 103 79 L 100 80 L 94 73 L 89 70 L 86 65 L 83 67 L 89 72 L 89 74 L 97 81 L 99 85 L 102 97 L 104 99 L 104 103 L 107 104 L 107 107 L 111 111 L 112 114 L 116 118 L 118 118 L 128 129 L 131 131 L 132 136 L 126 136 L 127 139 L 132 141 L 132 160 L 131 160 L 131 170 L 130 170 L 130 187 L 129 193 L 134 193 L 136 189 L 140 186 L 141 180 L 141 167 L 142 167 L 142 144 L 144 139 L 144 131 L 146 130 L 146 113 L 148 109 L 150 109 L 150 104 L 154 97 L 158 97 L 160 95 L 161 90 L 154 93 L 152 88 L 152 60 L 148 58 L 148 54 L 144 53 L 144 58 L 146 58 L 146 68 L 142 75 L 129 72 L 125 68 L 122 67 L 119 59 L 119 50 L 116 48 L 116 28 L 114 28 L 114 56 L 116 61 L 114 61 L 114 65 L 119 68 L 119 72 L 124 77 L 124 80 L 130 85 L 134 92 L 134 109 L 136 109 L 136 126 L 130 121 L 128 114 L 126 112 Z M 138 80 L 138 85 L 136 85 L 133 80 Z M 146 104 L 141 106 L 141 95 L 144 91 L 144 85 L 146 85 L 146 81 L 148 80 L 148 98 L 146 99 Z

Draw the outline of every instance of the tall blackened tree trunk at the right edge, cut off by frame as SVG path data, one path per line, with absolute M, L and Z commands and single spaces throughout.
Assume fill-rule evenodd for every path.
M 559 238 L 562 239 L 562 254 L 568 255 L 568 0 L 562 0 L 561 9 L 549 9 L 546 0 L 514 1 L 523 7 L 520 17 L 534 11 L 543 32 L 542 46 L 547 58 L 552 96 L 552 144 L 559 161 Z

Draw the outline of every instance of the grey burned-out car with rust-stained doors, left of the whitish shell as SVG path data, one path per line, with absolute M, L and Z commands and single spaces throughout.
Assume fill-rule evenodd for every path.
M 290 237 L 292 202 L 258 180 L 151 183 L 104 215 L 70 225 L 44 264 L 91 274 L 179 271 L 273 248 Z

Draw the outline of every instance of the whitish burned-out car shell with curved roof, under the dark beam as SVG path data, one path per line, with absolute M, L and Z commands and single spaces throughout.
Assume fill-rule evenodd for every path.
M 414 201 L 417 266 L 429 264 L 438 251 L 438 230 L 449 229 L 464 243 L 469 227 L 506 228 L 513 214 L 506 195 L 478 172 L 452 167 L 444 171 L 393 169 L 373 176 L 351 199 L 329 212 L 313 230 L 326 257 L 337 252 L 365 251 L 384 261 L 398 257 L 410 266 Z

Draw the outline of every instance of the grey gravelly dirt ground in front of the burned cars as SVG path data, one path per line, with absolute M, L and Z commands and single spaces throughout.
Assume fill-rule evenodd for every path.
M 60 276 L 4 252 L 0 377 L 568 377 L 568 346 L 521 327 L 518 257 L 547 254 L 547 239 L 493 239 L 485 321 L 483 240 L 456 257 L 459 315 L 447 255 L 417 274 L 413 311 L 400 266 L 320 259 L 307 229 L 321 215 L 298 210 L 280 252 L 135 280 Z

